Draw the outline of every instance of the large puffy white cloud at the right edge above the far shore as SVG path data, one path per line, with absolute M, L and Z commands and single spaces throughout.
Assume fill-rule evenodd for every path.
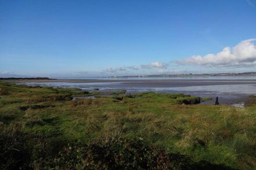
M 253 67 L 256 66 L 256 39 L 241 41 L 233 48 L 226 47 L 221 52 L 205 56 L 191 56 L 177 61 L 182 65 L 198 65 L 210 67 Z

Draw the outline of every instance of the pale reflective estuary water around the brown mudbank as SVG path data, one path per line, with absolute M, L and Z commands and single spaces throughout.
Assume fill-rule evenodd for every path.
M 105 78 L 107 79 L 107 78 Z M 109 79 L 109 78 L 108 78 Z M 115 80 L 116 78 L 112 78 Z M 133 79 L 137 82 L 133 82 Z M 185 93 L 193 96 L 200 96 L 200 97 L 211 97 L 214 100 L 204 102 L 205 104 L 212 104 L 215 102 L 215 97 L 219 97 L 219 102 L 221 104 L 233 104 L 233 106 L 243 106 L 244 102 L 248 100 L 248 95 L 255 95 L 256 94 L 256 78 L 254 76 L 241 76 L 241 77 L 193 77 L 196 81 L 202 79 L 204 80 L 211 80 L 211 79 L 221 79 L 221 80 L 229 80 L 229 79 L 237 79 L 240 80 L 247 80 L 250 79 L 251 81 L 255 81 L 255 84 L 225 84 L 225 85 L 188 85 L 188 86 L 161 86 L 155 85 L 154 82 L 151 84 L 145 83 L 143 81 L 139 82 L 138 80 L 159 80 L 161 78 L 122 78 L 120 82 L 26 82 L 27 85 L 40 85 L 40 86 L 52 86 L 52 87 L 61 87 L 61 88 L 80 88 L 86 91 L 93 91 L 94 88 L 99 88 L 99 91 L 119 91 L 125 89 L 127 93 L 137 93 L 137 92 L 147 92 L 147 91 L 154 91 L 154 92 L 161 92 L 161 93 Z M 162 78 L 166 79 L 166 78 Z M 167 78 L 169 79 L 169 78 Z M 176 78 L 177 80 L 190 80 L 192 78 Z M 192 80 L 193 80 L 192 79 Z M 128 81 L 129 80 L 129 81 Z M 169 81 L 175 81 L 175 79 L 169 79 Z

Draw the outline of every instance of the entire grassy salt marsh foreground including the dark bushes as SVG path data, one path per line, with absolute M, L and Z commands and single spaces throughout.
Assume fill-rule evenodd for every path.
M 255 169 L 254 103 L 124 93 L 0 82 L 0 169 Z

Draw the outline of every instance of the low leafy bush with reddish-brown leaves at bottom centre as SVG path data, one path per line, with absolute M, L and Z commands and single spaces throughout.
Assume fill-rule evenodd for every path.
M 189 169 L 189 158 L 168 154 L 143 140 L 123 140 L 88 146 L 68 146 L 55 158 L 60 169 Z M 56 168 L 56 167 L 55 167 Z

